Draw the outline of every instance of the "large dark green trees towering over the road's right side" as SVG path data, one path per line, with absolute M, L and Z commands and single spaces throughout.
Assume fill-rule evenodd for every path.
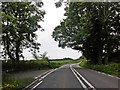
M 107 64 L 113 53 L 120 55 L 119 2 L 71 2 L 65 11 L 66 19 L 52 35 L 59 47 L 82 51 L 96 64 Z

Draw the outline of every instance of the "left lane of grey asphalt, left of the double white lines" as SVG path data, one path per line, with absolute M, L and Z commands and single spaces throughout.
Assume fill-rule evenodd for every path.
M 82 88 L 70 70 L 70 65 L 65 65 L 48 75 L 37 88 Z

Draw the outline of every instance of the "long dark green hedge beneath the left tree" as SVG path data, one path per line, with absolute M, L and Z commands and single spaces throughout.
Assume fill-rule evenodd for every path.
M 24 68 L 23 68 L 24 67 Z M 31 60 L 31 61 L 8 61 L 2 63 L 2 70 L 4 72 L 18 72 L 18 71 L 26 71 L 26 70 L 40 70 L 40 69 L 48 69 L 50 68 L 48 65 L 48 61 L 46 60 Z

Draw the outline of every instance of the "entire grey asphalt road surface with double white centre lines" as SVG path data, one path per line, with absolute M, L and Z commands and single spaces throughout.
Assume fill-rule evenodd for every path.
M 120 90 L 120 79 L 90 69 L 80 68 L 78 64 L 67 64 L 39 79 L 31 90 Z

